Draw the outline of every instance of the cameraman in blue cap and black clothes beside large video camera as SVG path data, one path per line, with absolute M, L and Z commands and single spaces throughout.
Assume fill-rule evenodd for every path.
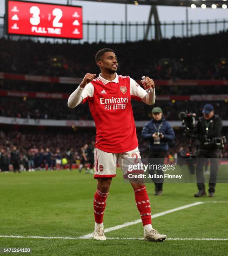
M 209 197 L 214 196 L 216 178 L 218 172 L 218 158 L 220 156 L 219 140 L 220 133 L 223 128 L 222 119 L 218 115 L 214 115 L 213 105 L 206 104 L 203 108 L 203 117 L 199 118 L 196 133 L 200 141 L 197 153 L 197 187 L 199 189 L 195 197 L 206 195 L 203 165 L 205 158 L 210 158 L 210 180 L 209 180 Z

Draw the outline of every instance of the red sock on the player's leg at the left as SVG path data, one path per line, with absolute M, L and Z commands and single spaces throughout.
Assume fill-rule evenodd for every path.
M 106 199 L 108 193 L 102 193 L 98 189 L 96 189 L 96 193 L 94 195 L 94 217 L 96 223 L 103 222 L 104 209 L 106 206 Z

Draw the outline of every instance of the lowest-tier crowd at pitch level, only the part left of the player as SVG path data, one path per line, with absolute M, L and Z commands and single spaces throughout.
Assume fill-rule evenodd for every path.
M 0 131 L 0 169 L 9 170 L 16 160 L 20 170 L 61 169 L 82 158 L 81 148 L 93 140 L 90 131 L 58 133 L 53 131 Z M 82 137 L 83 136 L 83 137 Z M 15 151 L 13 155 L 12 152 Z

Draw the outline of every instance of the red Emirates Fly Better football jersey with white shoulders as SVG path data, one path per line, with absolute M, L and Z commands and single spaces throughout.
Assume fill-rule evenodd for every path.
M 95 147 L 109 153 L 123 153 L 138 146 L 131 99 L 141 101 L 147 92 L 129 76 L 113 81 L 97 77 L 82 92 L 96 125 Z

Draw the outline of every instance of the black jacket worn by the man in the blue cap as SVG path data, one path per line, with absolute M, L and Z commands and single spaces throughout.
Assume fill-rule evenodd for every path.
M 208 130 L 207 130 L 208 127 Z M 206 138 L 213 139 L 220 137 L 220 133 L 223 128 L 222 119 L 218 115 L 213 115 L 209 120 L 205 120 L 204 117 L 199 118 L 196 125 L 196 134 L 200 141 L 199 148 L 203 149 L 215 149 L 218 146 L 215 145 L 204 145 Z

